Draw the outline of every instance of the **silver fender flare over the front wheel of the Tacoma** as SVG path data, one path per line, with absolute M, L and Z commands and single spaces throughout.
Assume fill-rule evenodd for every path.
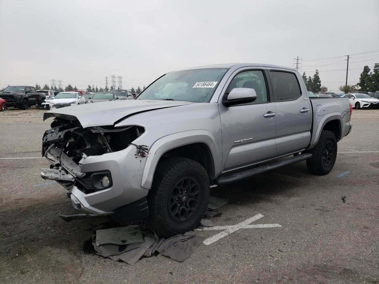
M 204 143 L 208 146 L 211 151 L 213 164 L 215 165 L 215 174 L 220 173 L 221 156 L 216 146 L 215 137 L 207 130 L 183 131 L 164 136 L 155 141 L 150 147 L 142 175 L 141 187 L 146 189 L 151 188 L 155 169 L 164 153 L 174 148 L 193 143 Z

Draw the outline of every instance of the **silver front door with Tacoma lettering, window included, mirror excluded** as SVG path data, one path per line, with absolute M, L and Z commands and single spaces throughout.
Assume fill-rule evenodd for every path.
M 223 172 L 276 156 L 276 106 L 265 69 L 242 68 L 230 76 L 222 98 L 234 88 L 251 88 L 257 99 L 226 107 L 219 103 Z

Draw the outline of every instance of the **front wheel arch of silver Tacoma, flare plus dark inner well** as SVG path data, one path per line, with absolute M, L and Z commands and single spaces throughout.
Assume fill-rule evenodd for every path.
M 205 165 L 210 179 L 214 179 L 221 172 L 221 156 L 213 135 L 207 130 L 183 131 L 162 137 L 150 147 L 141 187 L 151 188 L 158 162 L 161 158 L 172 155 L 193 159 Z

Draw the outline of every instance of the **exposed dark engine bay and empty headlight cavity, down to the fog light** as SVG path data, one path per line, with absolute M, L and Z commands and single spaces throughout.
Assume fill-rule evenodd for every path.
M 109 172 L 82 173 L 81 164 L 88 156 L 121 151 L 144 133 L 142 126 L 92 126 L 83 128 L 78 120 L 56 117 L 51 129 L 42 137 L 42 156 L 50 162 L 50 169 L 42 169 L 44 179 L 53 179 L 67 190 L 77 186 L 84 193 L 106 189 Z M 134 145 L 134 144 L 132 144 Z M 138 146 L 138 145 L 136 145 Z M 49 156 L 50 157 L 49 157 Z M 52 158 L 51 158 L 52 157 Z

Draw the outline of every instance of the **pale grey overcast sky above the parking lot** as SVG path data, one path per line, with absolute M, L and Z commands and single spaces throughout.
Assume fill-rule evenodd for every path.
M 342 56 L 351 55 L 349 84 L 379 62 L 378 12 L 379 0 L 0 0 L 0 88 L 51 79 L 105 87 L 114 74 L 130 89 L 185 67 L 292 66 L 299 56 L 302 72 L 318 69 L 337 91 Z

